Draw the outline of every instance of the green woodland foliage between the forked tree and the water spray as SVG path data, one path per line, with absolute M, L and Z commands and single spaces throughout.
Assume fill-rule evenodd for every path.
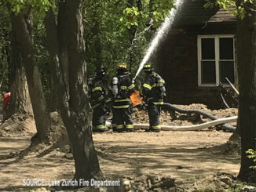
M 152 1 L 105 0 L 85 2 L 86 63 L 90 75 L 104 65 L 108 76 L 115 74 L 118 63 L 127 63 L 132 75 L 143 59 L 155 28 L 163 22 L 172 0 Z

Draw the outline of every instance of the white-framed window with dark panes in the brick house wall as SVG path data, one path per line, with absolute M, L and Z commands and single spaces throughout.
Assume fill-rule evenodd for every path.
M 202 35 L 197 38 L 199 86 L 234 82 L 234 36 Z

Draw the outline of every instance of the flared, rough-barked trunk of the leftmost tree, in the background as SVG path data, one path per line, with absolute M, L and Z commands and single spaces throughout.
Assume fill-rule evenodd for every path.
M 9 63 L 9 83 L 11 85 L 11 97 L 7 108 L 5 119 L 13 114 L 32 115 L 31 100 L 27 88 L 27 78 L 20 52 L 20 45 L 16 34 L 11 33 L 11 56 Z

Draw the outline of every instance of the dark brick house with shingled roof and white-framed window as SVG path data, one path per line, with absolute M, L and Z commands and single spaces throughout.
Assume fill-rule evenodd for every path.
M 166 81 L 166 101 L 222 107 L 217 85 L 236 85 L 236 16 L 232 10 L 206 9 L 205 0 L 186 0 L 174 26 L 155 54 Z

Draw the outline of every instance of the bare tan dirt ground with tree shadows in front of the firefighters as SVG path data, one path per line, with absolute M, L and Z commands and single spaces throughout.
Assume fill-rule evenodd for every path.
M 202 107 L 203 105 L 199 105 Z M 195 108 L 196 106 L 192 106 Z M 218 117 L 237 114 L 236 109 L 210 111 Z M 133 114 L 134 121 L 146 121 L 142 112 Z M 163 124 L 170 114 L 163 112 Z M 195 122 L 178 118 L 175 125 Z M 107 178 L 126 178 L 137 183 L 137 191 L 149 191 L 148 178 L 173 178 L 172 190 L 155 188 L 151 191 L 222 191 L 234 187 L 234 176 L 240 168 L 240 155 L 223 150 L 230 132 L 214 128 L 198 132 L 124 132 L 94 133 L 101 170 Z M 72 179 L 74 160 L 64 158 L 63 150 L 39 148 L 18 158 L 16 152 L 30 145 L 30 135 L 0 137 L 0 190 L 32 190 L 23 187 L 23 179 Z M 138 184 L 139 183 L 139 184 Z M 134 184 L 134 185 L 135 185 Z M 47 191 L 48 187 L 35 191 Z M 134 190 L 134 191 L 136 191 Z

